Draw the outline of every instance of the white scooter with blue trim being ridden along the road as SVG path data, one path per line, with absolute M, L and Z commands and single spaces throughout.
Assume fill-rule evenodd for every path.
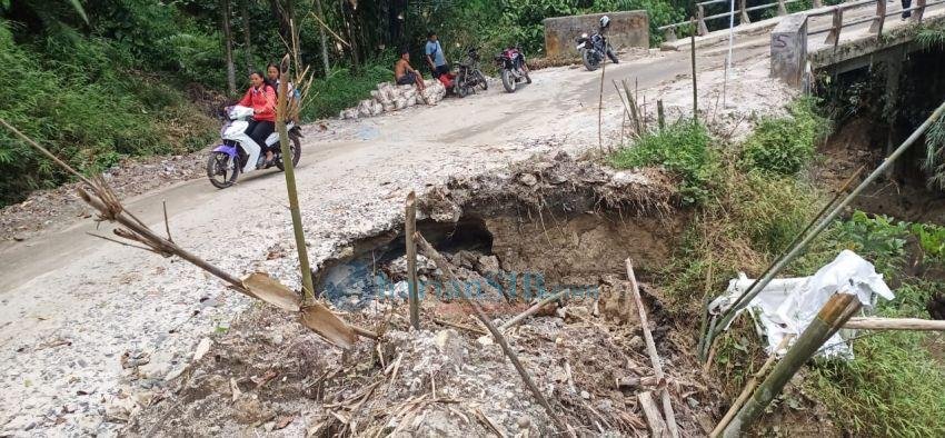
M 229 120 L 220 129 L 223 143 L 210 151 L 207 158 L 207 178 L 213 187 L 226 189 L 236 183 L 240 173 L 268 169 L 272 166 L 285 170 L 278 132 L 272 132 L 266 139 L 266 146 L 275 153 L 275 159 L 267 166 L 262 148 L 246 133 L 249 119 L 252 117 L 252 108 L 233 106 L 227 108 L 226 112 Z M 302 153 L 301 129 L 291 121 L 286 123 L 286 129 L 289 131 L 291 142 L 289 149 L 292 151 L 292 166 L 295 166 L 299 163 Z

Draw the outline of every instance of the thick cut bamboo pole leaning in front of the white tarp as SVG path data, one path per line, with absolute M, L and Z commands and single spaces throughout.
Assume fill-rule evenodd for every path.
M 758 386 L 754 396 L 745 401 L 738 414 L 723 429 L 722 436 L 726 438 L 742 436 L 765 411 L 772 400 L 780 394 L 784 386 L 804 366 L 804 362 L 817 352 L 824 341 L 843 327 L 846 319 L 859 309 L 859 300 L 850 293 L 835 293 L 830 297 L 827 303 L 820 308 L 817 317 L 797 338 L 797 342 L 790 347 L 772 370 L 772 374 Z

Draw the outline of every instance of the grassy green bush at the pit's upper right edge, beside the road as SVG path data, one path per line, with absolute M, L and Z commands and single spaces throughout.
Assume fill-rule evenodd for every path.
M 608 158 L 617 169 L 663 166 L 682 179 L 684 205 L 705 201 L 717 176 L 718 158 L 709 148 L 705 127 L 678 121 L 662 131 L 645 135 Z

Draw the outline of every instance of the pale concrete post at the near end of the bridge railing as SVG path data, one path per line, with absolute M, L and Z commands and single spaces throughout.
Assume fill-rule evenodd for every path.
M 787 16 L 772 31 L 772 77 L 800 86 L 807 63 L 807 16 Z

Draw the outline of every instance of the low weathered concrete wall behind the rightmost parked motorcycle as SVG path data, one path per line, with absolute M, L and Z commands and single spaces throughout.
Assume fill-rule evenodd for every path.
M 649 48 L 649 16 L 646 11 L 591 13 L 546 18 L 544 20 L 545 57 L 577 57 L 574 39 L 584 32 L 593 33 L 599 27 L 598 20 L 603 16 L 610 17 L 610 27 L 606 36 L 615 50 L 629 47 Z

